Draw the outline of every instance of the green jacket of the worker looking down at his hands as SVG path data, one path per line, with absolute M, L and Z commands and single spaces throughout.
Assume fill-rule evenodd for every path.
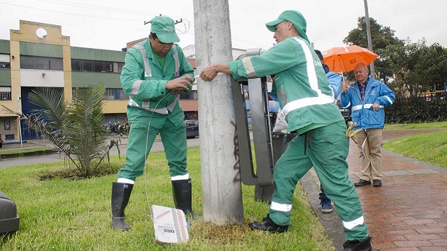
M 145 67 L 142 53 L 145 53 L 149 66 Z M 126 52 L 120 77 L 124 93 L 130 96 L 127 105 L 129 121 L 139 116 L 165 119 L 167 117 L 175 124 L 183 121 L 182 108 L 178 104 L 177 97 L 166 89 L 166 82 L 184 75 L 193 77 L 193 74 L 194 69 L 176 44 L 166 54 L 163 69 L 154 56 L 149 39 L 131 47 Z M 190 90 L 191 88 L 188 89 Z M 163 123 L 162 121 L 160 122 Z

